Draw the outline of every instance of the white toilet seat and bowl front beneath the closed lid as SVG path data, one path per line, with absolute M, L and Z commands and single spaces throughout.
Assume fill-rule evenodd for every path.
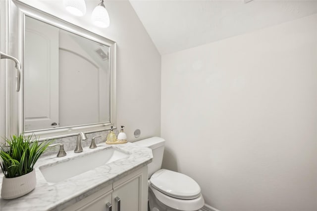
M 153 187 L 153 185 L 150 185 L 150 191 L 152 191 L 155 195 L 155 197 L 165 206 L 173 208 L 175 210 L 180 211 L 197 211 L 201 209 L 204 204 L 204 198 L 202 194 L 199 194 L 199 196 L 196 199 L 176 199 L 170 196 L 165 195 L 164 193 L 160 192 L 156 188 Z M 151 193 L 149 193 L 151 194 Z

